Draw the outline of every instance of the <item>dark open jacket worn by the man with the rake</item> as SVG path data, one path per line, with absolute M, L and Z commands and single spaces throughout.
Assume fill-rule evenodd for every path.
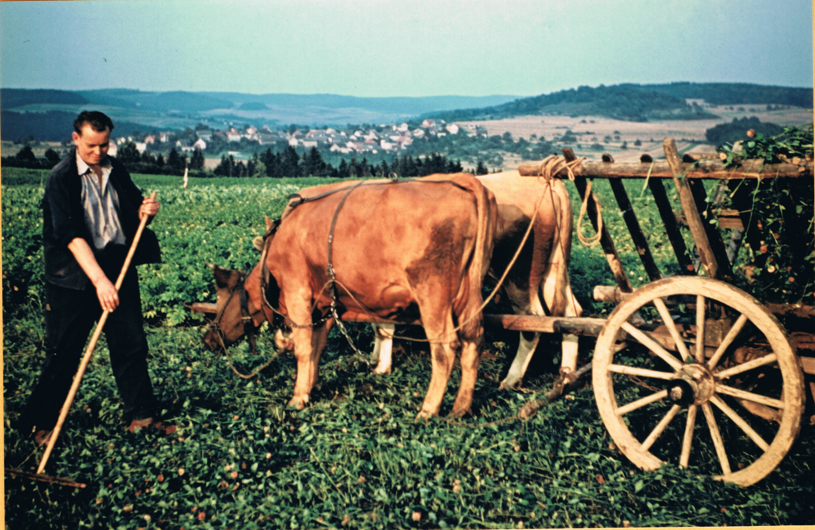
M 139 207 L 143 196 L 130 180 L 130 173 L 127 173 L 121 162 L 112 157 L 108 157 L 108 160 L 112 166 L 109 180 L 119 197 L 119 223 L 125 232 L 126 246 L 130 248 L 130 243 L 133 242 L 139 228 Z M 90 248 L 94 248 L 93 237 L 85 222 L 82 182 L 77 174 L 76 149 L 59 162 L 48 175 L 46 192 L 42 197 L 42 221 L 46 280 L 59 287 L 86 288 L 90 279 L 73 257 L 73 253 L 68 250 L 68 243 L 74 238 L 85 239 Z M 131 265 L 159 262 L 161 251 L 156 234 L 152 230 L 144 229 Z

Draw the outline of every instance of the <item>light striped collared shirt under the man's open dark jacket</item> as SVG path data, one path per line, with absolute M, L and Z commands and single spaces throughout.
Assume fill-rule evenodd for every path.
M 77 173 L 82 179 L 82 206 L 85 223 L 94 239 L 94 247 L 102 250 L 108 243 L 125 244 L 125 231 L 119 223 L 119 196 L 110 183 L 112 166 L 106 157 L 102 167 L 102 186 L 99 177 L 77 153 Z

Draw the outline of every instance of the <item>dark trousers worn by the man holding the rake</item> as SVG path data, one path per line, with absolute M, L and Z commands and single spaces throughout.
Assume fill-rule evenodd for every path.
M 124 260 L 98 261 L 115 283 L 119 272 L 116 264 L 121 267 Z M 21 418 L 23 429 L 36 426 L 37 431 L 48 431 L 55 426 L 85 353 L 90 330 L 101 315 L 102 308 L 92 285 L 77 291 L 46 282 L 46 360 L 37 386 L 25 405 Z M 119 306 L 108 315 L 104 335 L 113 376 L 124 402 L 125 420 L 151 417 L 156 400 L 148 375 L 148 341 L 142 323 L 139 277 L 133 267 L 119 290 Z M 77 393 L 81 393 L 81 386 Z

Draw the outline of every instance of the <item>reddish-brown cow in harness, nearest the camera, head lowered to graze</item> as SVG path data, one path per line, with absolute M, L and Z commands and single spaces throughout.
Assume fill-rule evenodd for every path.
M 467 173 L 432 175 L 420 182 L 338 182 L 300 191 L 304 198 L 337 191 L 311 202 L 289 205 L 280 225 L 267 219 L 264 242 L 267 300 L 292 328 L 289 340 L 297 358 L 297 380 L 290 406 L 302 408 L 318 380 L 319 357 L 333 319 L 328 315 L 328 233 L 341 200 L 333 232 L 333 269 L 341 318 L 377 315 L 392 322 L 421 318 L 430 339 L 432 375 L 419 416 L 438 414 L 460 347 L 461 384 L 452 415 L 469 410 L 482 348 L 482 280 L 487 273 L 496 227 L 496 202 Z M 436 181 L 436 182 L 429 182 Z M 446 182 L 438 182 L 446 181 Z M 262 260 L 263 261 L 263 260 Z M 254 326 L 272 321 L 263 304 L 264 263 L 245 278 L 248 313 Z M 214 269 L 218 284 L 219 327 L 228 345 L 245 331 L 240 278 Z M 361 304 L 363 307 L 360 307 Z M 330 316 L 330 315 L 328 315 Z M 456 323 L 460 329 L 456 332 Z M 218 348 L 218 333 L 205 343 Z

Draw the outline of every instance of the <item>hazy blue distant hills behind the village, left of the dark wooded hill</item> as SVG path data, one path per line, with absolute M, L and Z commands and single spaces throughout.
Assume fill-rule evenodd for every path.
M 337 94 L 0 89 L 3 140 L 29 135 L 53 138 L 59 134 L 57 131 L 64 130 L 66 116 L 62 113 L 76 116 L 86 109 L 107 113 L 117 127 L 129 132 L 193 128 L 201 121 L 215 128 L 231 123 L 258 126 L 393 123 L 424 112 L 483 107 L 513 99 L 517 96 L 359 98 Z

